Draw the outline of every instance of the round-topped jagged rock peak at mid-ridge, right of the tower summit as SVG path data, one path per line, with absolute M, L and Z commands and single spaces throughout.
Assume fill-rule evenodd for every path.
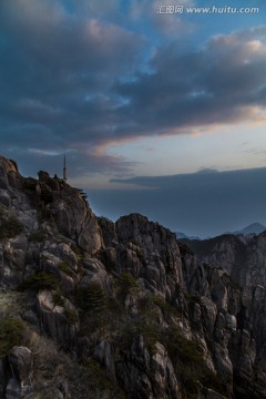
M 103 259 L 108 258 L 119 273 L 132 273 L 143 279 L 147 289 L 173 298 L 176 285 L 183 284 L 175 235 L 142 215 L 131 214 L 115 223 L 115 249 L 109 248 Z

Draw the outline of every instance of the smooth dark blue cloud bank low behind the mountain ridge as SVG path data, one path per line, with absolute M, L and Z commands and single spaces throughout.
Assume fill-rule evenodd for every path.
M 135 190 L 89 191 L 94 211 L 110 218 L 140 212 L 172 231 L 211 236 L 266 223 L 266 168 L 143 176 L 115 182 Z M 263 216 L 264 215 L 264 216 Z

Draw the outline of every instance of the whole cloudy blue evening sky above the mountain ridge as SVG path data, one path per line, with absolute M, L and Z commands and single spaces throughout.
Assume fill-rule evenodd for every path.
M 1 0 L 0 153 L 186 234 L 266 225 L 266 3 Z

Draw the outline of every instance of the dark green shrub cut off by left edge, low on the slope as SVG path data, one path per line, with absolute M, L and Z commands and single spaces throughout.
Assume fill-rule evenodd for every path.
M 12 318 L 0 319 L 0 359 L 4 358 L 13 346 L 21 345 L 24 324 Z

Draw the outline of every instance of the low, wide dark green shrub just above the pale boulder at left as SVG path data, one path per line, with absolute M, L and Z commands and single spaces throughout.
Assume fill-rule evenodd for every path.
M 18 290 L 24 291 L 27 289 L 39 291 L 40 289 L 57 289 L 59 288 L 59 279 L 53 274 L 40 272 L 29 276 L 24 282 L 18 286 Z

